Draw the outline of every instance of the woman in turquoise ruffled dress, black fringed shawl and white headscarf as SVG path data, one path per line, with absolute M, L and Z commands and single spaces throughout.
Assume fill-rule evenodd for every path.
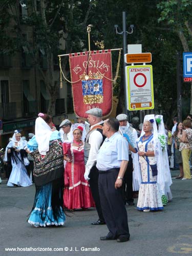
M 63 154 L 58 131 L 52 130 L 52 118 L 39 113 L 35 136 L 28 142 L 28 152 L 34 158 L 34 205 L 28 223 L 35 227 L 64 225 Z

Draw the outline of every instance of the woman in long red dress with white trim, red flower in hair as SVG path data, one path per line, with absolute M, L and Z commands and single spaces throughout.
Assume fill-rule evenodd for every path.
M 88 181 L 84 179 L 84 143 L 81 141 L 82 127 L 73 131 L 73 142 L 63 143 L 65 167 L 64 207 L 80 209 L 95 207 Z

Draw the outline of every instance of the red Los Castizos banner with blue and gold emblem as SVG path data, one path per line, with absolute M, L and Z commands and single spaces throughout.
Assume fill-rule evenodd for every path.
M 111 50 L 69 55 L 74 112 L 79 117 L 92 108 L 102 109 L 103 116 L 112 110 Z

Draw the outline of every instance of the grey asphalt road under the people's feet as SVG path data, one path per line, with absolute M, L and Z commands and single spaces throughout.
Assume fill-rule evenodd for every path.
M 7 187 L 5 182 L 0 185 L 0 255 L 192 255 L 192 180 L 173 179 L 174 199 L 163 211 L 140 212 L 135 206 L 126 206 L 131 240 L 125 243 L 99 240 L 108 230 L 105 225 L 90 225 L 97 220 L 95 209 L 70 213 L 65 227 L 30 226 L 26 220 L 34 193 L 34 185 L 16 188 Z M 6 252 L 8 247 L 18 247 L 18 251 Z M 62 251 L 34 251 L 36 248 Z M 93 249 L 86 251 L 88 248 Z

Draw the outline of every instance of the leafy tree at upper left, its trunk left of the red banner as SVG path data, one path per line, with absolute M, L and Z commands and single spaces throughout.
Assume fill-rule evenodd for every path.
M 26 6 L 28 15 L 20 22 L 18 12 L 19 2 Z M 94 1 L 77 0 L 3 0 L 1 11 L 1 42 L 3 52 L 14 54 L 19 52 L 23 46 L 26 46 L 29 54 L 32 56 L 33 67 L 40 72 L 42 78 L 46 81 L 46 86 L 50 94 L 48 113 L 55 114 L 55 100 L 57 98 L 58 86 L 53 79 L 54 58 L 61 53 L 59 39 L 66 41 L 65 53 L 80 51 L 83 48 L 83 36 L 86 31 L 87 19 Z M 37 4 L 39 4 L 37 8 Z M 75 18 L 74 18 L 75 17 Z M 14 20 L 14 25 L 11 24 Z M 33 42 L 23 35 L 23 25 L 27 25 L 33 31 Z M 6 33 L 7 27 L 10 33 Z M 42 70 L 39 65 L 39 50 L 46 54 L 47 70 Z M 63 53 L 63 52 L 62 52 Z M 62 62 L 66 72 L 68 60 Z

